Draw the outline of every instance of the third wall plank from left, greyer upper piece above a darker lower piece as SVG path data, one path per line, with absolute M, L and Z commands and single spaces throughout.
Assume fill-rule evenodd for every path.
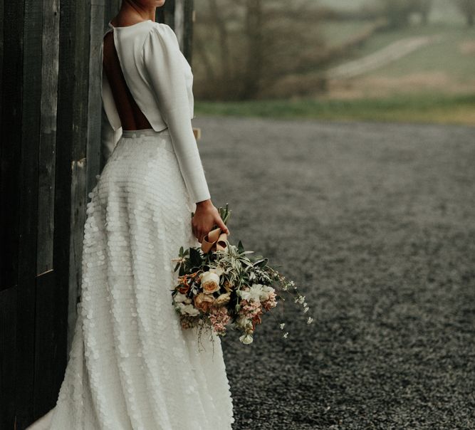
M 56 404 L 58 349 L 56 345 L 55 278 L 53 273 L 56 114 L 58 104 L 59 1 L 43 0 L 43 65 L 38 173 L 38 243 L 35 303 L 35 379 L 33 421 Z M 55 379 L 56 377 L 56 379 Z

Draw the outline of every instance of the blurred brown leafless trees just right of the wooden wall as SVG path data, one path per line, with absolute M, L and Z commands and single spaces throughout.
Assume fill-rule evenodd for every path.
M 207 0 L 194 28 L 197 95 L 259 98 L 284 81 L 290 85 L 291 75 L 321 68 L 329 54 L 318 32 L 322 13 L 314 5 L 314 0 Z

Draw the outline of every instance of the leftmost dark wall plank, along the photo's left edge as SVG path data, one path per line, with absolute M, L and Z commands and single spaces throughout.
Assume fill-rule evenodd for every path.
M 19 252 L 19 160 L 23 14 L 21 1 L 1 2 L 0 127 L 0 428 L 13 429 L 16 411 L 16 309 Z M 9 37 L 4 38 L 4 34 Z M 14 108 L 5 108 L 14 107 Z M 6 352 L 6 353 L 5 353 Z

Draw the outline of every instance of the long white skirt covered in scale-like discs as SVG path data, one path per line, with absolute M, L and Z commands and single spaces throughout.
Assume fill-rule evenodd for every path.
M 221 341 L 199 344 L 172 305 L 172 258 L 199 242 L 168 130 L 123 132 L 89 196 L 78 320 L 45 428 L 231 429 Z

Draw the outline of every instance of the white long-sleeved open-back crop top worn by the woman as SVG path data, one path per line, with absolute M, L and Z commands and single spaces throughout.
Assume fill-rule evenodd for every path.
M 179 49 L 177 36 L 167 24 L 152 20 L 132 26 L 114 27 L 115 50 L 118 53 L 125 83 L 137 106 L 153 130 L 168 127 L 182 177 L 194 202 L 210 198 L 197 141 L 193 134 L 193 73 Z M 103 63 L 103 42 L 100 46 Z M 102 131 L 101 154 L 107 161 L 120 136 L 122 126 L 113 93 L 103 68 L 101 70 Z

